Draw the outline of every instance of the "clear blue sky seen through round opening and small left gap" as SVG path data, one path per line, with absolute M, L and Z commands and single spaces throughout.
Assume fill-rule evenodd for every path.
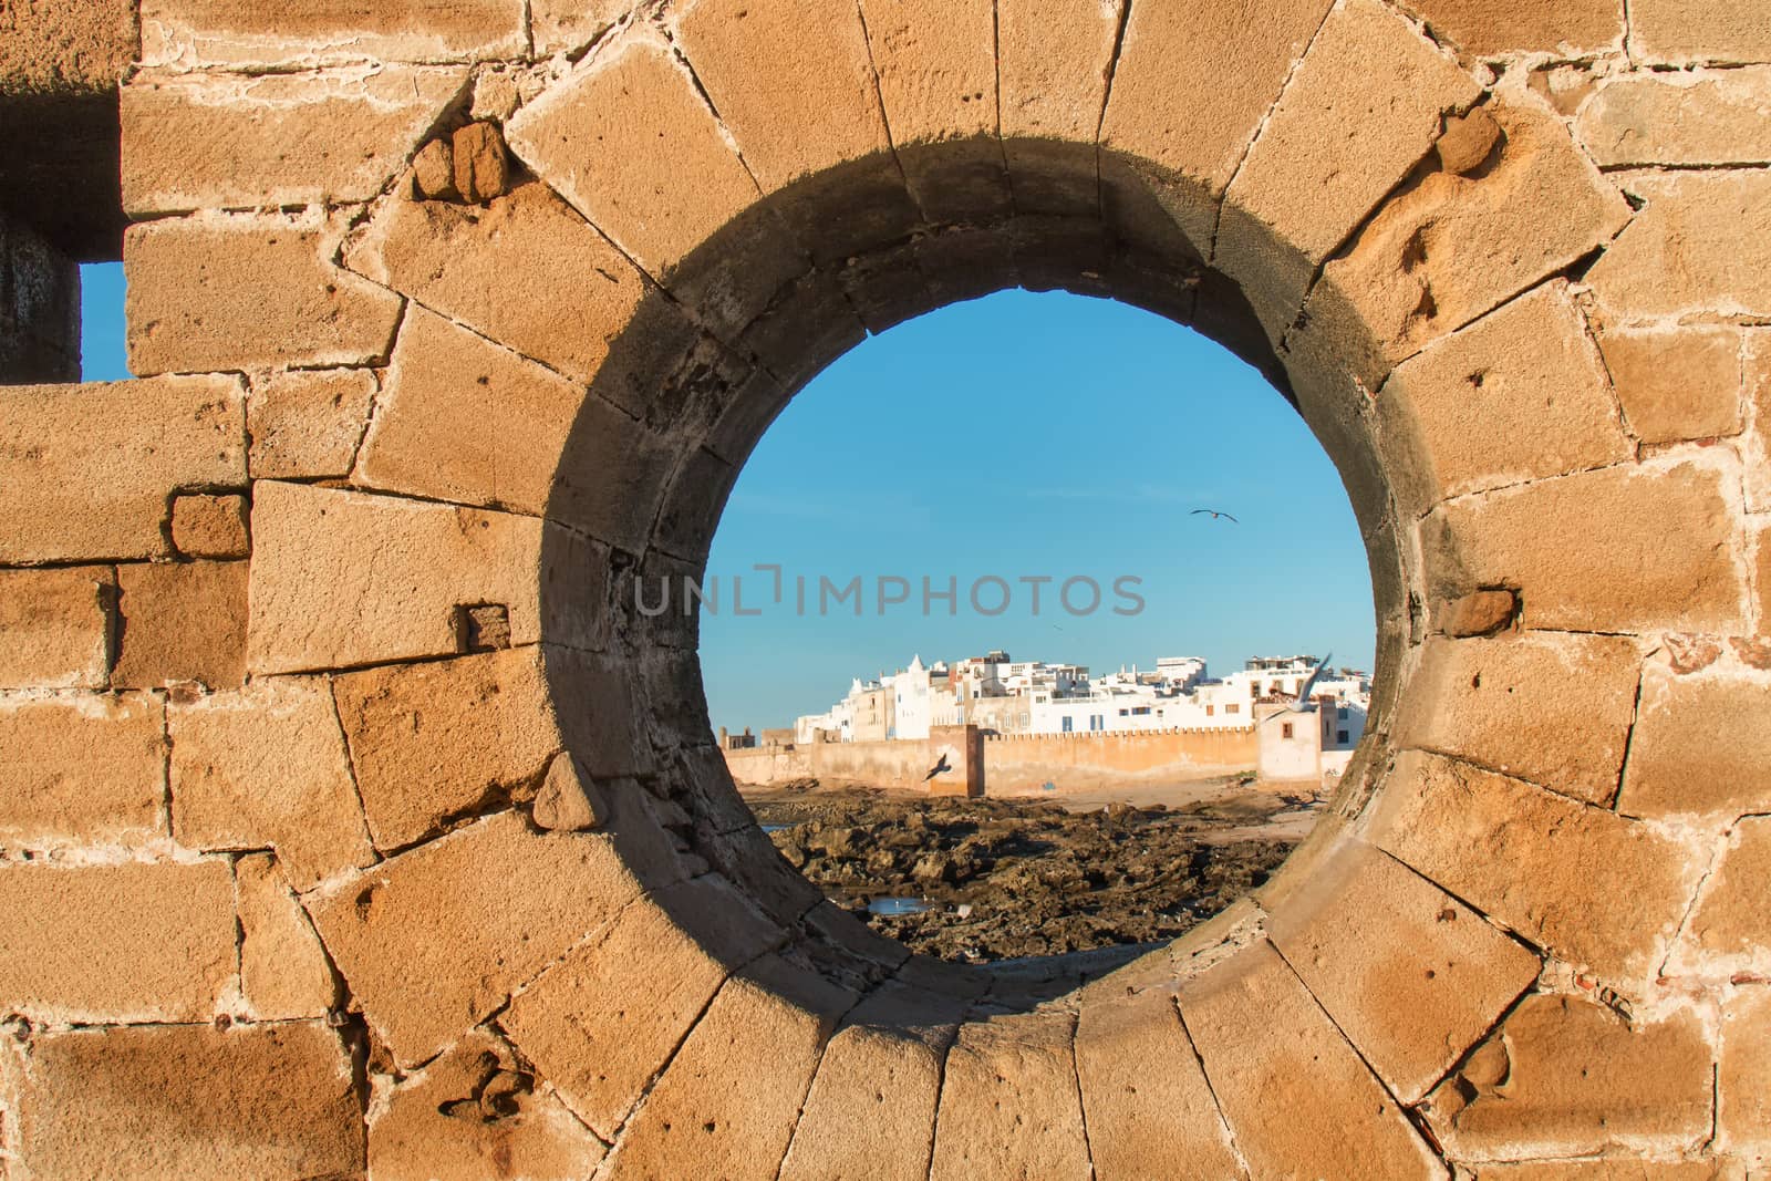
M 83 267 L 85 375 L 128 375 L 122 267 Z M 1234 513 L 1240 524 L 1192 515 Z M 783 604 L 769 602 L 783 567 Z M 1203 655 L 1215 673 L 1257 653 L 1334 650 L 1371 668 L 1371 575 L 1341 480 L 1309 427 L 1217 343 L 1137 308 L 999 292 L 871 336 L 816 377 L 758 444 L 714 540 L 721 611 L 701 620 L 715 726 L 781 726 L 852 676 L 1006 648 L 1093 669 Z M 746 609 L 731 611 L 731 579 Z M 793 577 L 808 579 L 808 613 Z M 818 577 L 861 577 L 861 618 L 818 614 Z M 880 577 L 910 602 L 880 614 Z M 1024 577 L 1041 584 L 1032 613 Z M 1137 614 L 1112 593 L 1141 579 Z M 924 616 L 921 579 L 953 579 L 958 611 Z M 979 577 L 1009 606 L 981 616 Z M 1094 579 L 1071 614 L 1059 583 Z M 898 584 L 887 584 L 887 591 Z M 979 588 L 986 609 L 1002 598 Z M 1087 607 L 1086 583 L 1071 606 Z

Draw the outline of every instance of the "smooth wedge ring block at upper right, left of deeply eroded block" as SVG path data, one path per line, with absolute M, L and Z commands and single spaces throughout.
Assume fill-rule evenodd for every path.
M 1226 193 L 1215 264 L 1268 331 L 1303 303 L 1314 269 L 1438 138 L 1475 81 L 1376 0 L 1337 7 Z M 1357 154 L 1360 166 L 1346 168 Z

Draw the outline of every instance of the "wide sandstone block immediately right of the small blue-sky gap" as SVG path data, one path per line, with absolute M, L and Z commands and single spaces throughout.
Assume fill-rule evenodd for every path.
M 124 237 L 129 370 L 367 365 L 400 299 L 331 264 L 321 214 L 149 221 Z

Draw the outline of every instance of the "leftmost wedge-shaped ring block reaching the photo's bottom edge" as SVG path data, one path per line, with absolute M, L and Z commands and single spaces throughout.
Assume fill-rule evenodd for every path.
M 854 1002 L 779 956 L 728 979 L 646 1094 L 611 1170 L 669 1176 L 694 1160 L 731 1181 L 776 1177 L 824 1043 Z

